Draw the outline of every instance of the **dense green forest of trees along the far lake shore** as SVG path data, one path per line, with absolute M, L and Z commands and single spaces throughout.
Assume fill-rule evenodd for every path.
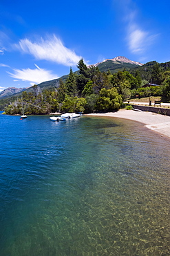
M 123 101 L 138 97 L 159 95 L 167 102 L 170 100 L 170 66 L 149 62 L 131 71 L 117 73 L 99 71 L 80 60 L 78 72 L 70 74 L 65 82 L 60 79 L 59 86 L 42 90 L 39 85 L 32 91 L 23 91 L 5 111 L 8 114 L 47 114 L 51 112 L 114 111 L 123 106 Z M 151 82 L 160 86 L 142 87 Z

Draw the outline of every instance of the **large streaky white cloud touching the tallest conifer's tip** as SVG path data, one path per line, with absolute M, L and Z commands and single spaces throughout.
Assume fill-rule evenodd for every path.
M 81 59 L 81 56 L 65 47 L 56 35 L 48 36 L 46 39 L 41 37 L 36 42 L 31 42 L 27 38 L 21 39 L 15 47 L 22 53 L 33 55 L 36 60 L 47 60 L 65 66 L 75 66 Z

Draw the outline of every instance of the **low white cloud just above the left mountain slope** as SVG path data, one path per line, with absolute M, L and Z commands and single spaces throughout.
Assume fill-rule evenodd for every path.
M 13 69 L 14 73 L 8 72 L 8 74 L 17 80 L 28 81 L 31 85 L 58 78 L 58 75 L 53 74 L 52 71 L 39 68 L 36 64 L 35 66 L 35 69 Z

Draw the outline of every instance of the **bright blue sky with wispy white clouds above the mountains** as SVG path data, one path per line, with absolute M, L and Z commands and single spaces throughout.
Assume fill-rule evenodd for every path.
M 169 0 L 1 0 L 0 91 L 76 71 L 81 57 L 169 62 L 169 13 Z

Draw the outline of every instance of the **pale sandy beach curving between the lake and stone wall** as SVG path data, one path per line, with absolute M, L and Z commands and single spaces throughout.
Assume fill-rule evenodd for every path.
M 124 118 L 141 122 L 145 127 L 158 132 L 161 136 L 170 138 L 170 116 L 158 113 L 120 109 L 117 112 L 91 113 L 88 116 L 108 116 L 113 118 Z

